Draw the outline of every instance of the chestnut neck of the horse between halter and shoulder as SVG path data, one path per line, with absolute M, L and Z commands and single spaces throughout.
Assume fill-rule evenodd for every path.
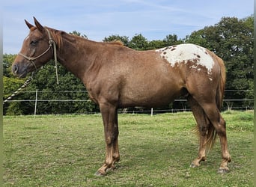
M 90 40 L 64 34 L 62 47 L 58 49 L 58 61 L 83 82 L 88 67 L 94 63 L 94 58 L 92 58 L 94 45 L 90 43 L 92 43 Z

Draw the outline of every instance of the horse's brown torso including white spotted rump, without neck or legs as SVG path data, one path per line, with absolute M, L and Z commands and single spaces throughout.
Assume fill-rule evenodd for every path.
M 111 93 L 109 100 L 121 107 L 166 105 L 183 93 L 207 92 L 218 85 L 216 55 L 201 46 L 180 44 L 143 52 L 114 48 L 118 50 L 99 73 L 98 89 Z

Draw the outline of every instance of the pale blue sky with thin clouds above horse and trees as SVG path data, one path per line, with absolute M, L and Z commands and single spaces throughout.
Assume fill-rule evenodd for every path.
M 253 0 L 7 0 L 1 2 L 3 52 L 17 54 L 33 16 L 61 31 L 78 31 L 89 40 L 112 34 L 142 34 L 163 40 L 168 34 L 185 38 L 192 31 L 218 23 L 223 16 L 243 19 L 254 13 Z

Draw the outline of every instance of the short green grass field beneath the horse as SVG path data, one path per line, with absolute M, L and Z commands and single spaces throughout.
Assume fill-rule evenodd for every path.
M 4 186 L 253 186 L 253 111 L 222 113 L 232 156 L 217 174 L 219 139 L 199 168 L 190 112 L 119 114 L 118 168 L 106 177 L 100 114 L 4 117 Z

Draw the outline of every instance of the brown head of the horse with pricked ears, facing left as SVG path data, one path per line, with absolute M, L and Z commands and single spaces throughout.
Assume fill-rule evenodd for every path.
M 22 44 L 22 49 L 12 65 L 14 76 L 24 78 L 27 73 L 37 70 L 53 58 L 52 47 L 55 45 L 47 28 L 44 28 L 34 18 L 34 25 L 25 20 L 30 32 Z

